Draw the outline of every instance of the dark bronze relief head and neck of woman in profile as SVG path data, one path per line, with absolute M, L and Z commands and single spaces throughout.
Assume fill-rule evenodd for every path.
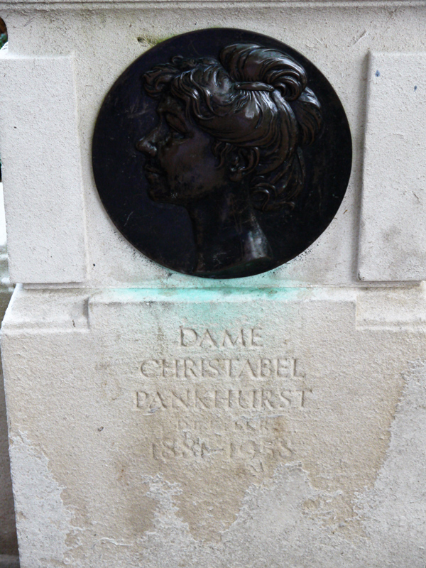
M 175 57 L 143 79 L 159 116 L 137 144 L 148 193 L 190 214 L 195 273 L 229 277 L 268 266 L 273 253 L 256 210 L 294 207 L 304 184 L 300 148 L 322 125 L 303 67 L 237 43 L 219 60 Z

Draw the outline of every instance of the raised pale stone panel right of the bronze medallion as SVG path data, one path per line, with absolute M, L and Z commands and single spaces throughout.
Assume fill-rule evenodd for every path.
M 426 53 L 371 53 L 359 278 L 426 278 Z

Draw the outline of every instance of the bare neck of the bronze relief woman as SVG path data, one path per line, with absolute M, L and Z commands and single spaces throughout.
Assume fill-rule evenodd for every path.
M 248 190 L 227 187 L 191 203 L 199 275 L 222 275 L 271 261 L 272 252 L 251 206 Z

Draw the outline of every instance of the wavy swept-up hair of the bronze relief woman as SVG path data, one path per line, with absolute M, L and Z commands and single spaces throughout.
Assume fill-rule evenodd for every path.
M 251 174 L 251 200 L 262 211 L 294 207 L 305 181 L 301 146 L 322 126 L 305 69 L 288 55 L 236 43 L 214 58 L 174 57 L 143 75 L 151 97 L 182 102 L 187 117 L 214 138 L 230 172 Z

